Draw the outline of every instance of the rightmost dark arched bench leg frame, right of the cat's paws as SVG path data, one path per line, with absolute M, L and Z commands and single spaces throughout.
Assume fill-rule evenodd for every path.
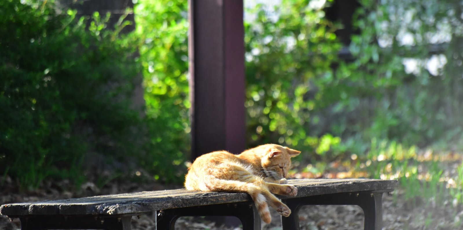
M 290 209 L 289 217 L 282 216 L 283 230 L 299 230 L 298 212 L 306 205 L 357 205 L 365 215 L 364 230 L 382 229 L 382 192 L 338 193 L 282 200 Z

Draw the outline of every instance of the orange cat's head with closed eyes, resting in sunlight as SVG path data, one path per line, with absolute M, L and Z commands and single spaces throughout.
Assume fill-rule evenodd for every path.
M 263 151 L 261 166 L 266 176 L 280 180 L 288 176 L 291 167 L 291 157 L 299 155 L 300 151 L 281 145 L 267 144 L 259 146 Z

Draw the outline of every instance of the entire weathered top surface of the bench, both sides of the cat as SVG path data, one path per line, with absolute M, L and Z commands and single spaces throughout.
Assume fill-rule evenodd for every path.
M 397 181 L 375 179 L 290 179 L 295 197 L 344 192 L 392 191 Z M 280 198 L 293 198 L 279 196 Z M 0 214 L 24 215 L 137 215 L 155 210 L 251 201 L 245 193 L 200 192 L 185 189 L 102 195 L 69 200 L 6 204 Z

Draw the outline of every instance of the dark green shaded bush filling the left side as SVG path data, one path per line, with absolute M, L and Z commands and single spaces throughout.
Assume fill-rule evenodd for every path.
M 141 151 L 143 127 L 130 106 L 136 46 L 104 30 L 107 15 L 88 21 L 53 7 L 0 2 L 0 173 L 25 187 L 46 177 L 78 184 L 84 161 Z

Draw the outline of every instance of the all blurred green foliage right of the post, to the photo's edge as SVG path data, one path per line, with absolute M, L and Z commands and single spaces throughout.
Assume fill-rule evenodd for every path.
M 459 1 L 361 1 L 350 62 L 337 55 L 342 45 L 334 31 L 341 25 L 325 19 L 331 2 L 317 2 L 248 9 L 256 15 L 245 24 L 251 145 L 292 145 L 330 161 L 367 153 L 373 138 L 457 144 L 463 131 Z M 326 134 L 342 142 L 327 142 Z

